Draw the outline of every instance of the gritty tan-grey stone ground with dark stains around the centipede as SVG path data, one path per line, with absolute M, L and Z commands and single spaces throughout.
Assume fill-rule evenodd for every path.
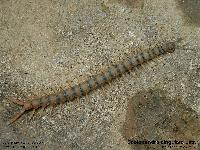
M 0 0 L 0 149 L 200 149 L 199 8 L 198 0 Z M 174 53 L 80 103 L 6 124 L 21 109 L 11 99 L 58 92 L 165 41 L 176 41 Z

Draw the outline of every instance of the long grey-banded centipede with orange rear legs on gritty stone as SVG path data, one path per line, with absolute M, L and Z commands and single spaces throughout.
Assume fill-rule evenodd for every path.
M 176 46 L 174 42 L 168 42 L 161 46 L 156 46 L 152 49 L 140 52 L 134 57 L 108 68 L 104 73 L 91 77 L 85 82 L 74 85 L 73 87 L 63 90 L 57 94 L 51 94 L 41 98 L 33 99 L 31 102 L 13 100 L 14 103 L 23 106 L 23 108 L 10 120 L 9 124 L 15 122 L 27 110 L 36 110 L 40 107 L 45 108 L 49 105 L 63 104 L 65 102 L 70 102 L 75 98 L 82 97 L 89 92 L 102 87 L 106 83 L 110 83 L 113 79 L 135 67 L 147 63 L 148 61 L 160 55 L 174 52 L 175 47 Z

